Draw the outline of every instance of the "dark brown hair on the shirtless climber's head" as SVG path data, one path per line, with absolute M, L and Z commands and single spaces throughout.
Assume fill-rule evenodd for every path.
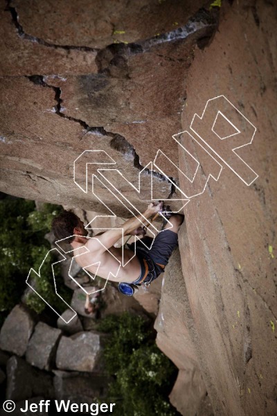
M 71 209 L 62 211 L 62 213 L 52 221 L 52 229 L 55 237 L 59 240 L 66 239 L 66 237 L 74 234 L 73 229 L 78 227 L 80 218 L 74 214 Z M 67 239 L 66 243 L 72 243 L 74 237 Z

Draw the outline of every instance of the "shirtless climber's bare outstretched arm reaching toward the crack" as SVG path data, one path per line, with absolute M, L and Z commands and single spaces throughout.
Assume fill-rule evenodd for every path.
M 105 250 L 108 250 L 111 248 L 118 239 L 123 235 L 129 234 L 134 229 L 139 227 L 141 223 L 145 222 L 145 218 L 150 218 L 150 216 L 157 214 L 157 212 L 161 211 L 163 207 L 163 202 L 159 202 L 159 204 L 154 205 L 151 203 L 148 205 L 148 209 L 143 212 L 142 215 L 139 215 L 137 217 L 129 218 L 125 223 L 120 225 L 120 227 L 115 227 L 112 229 L 108 229 L 103 234 L 97 236 L 96 238 L 89 239 L 87 243 L 87 248 L 90 250 L 95 250 L 97 252 L 105 252 Z M 99 243 L 100 241 L 100 243 Z

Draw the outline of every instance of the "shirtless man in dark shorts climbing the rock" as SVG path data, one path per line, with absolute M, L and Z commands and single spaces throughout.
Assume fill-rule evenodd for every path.
M 164 271 L 168 259 L 172 254 L 178 240 L 178 231 L 184 216 L 173 214 L 164 227 L 154 239 L 152 248 L 145 250 L 143 248 L 134 251 L 127 248 L 116 248 L 114 244 L 127 234 L 140 235 L 144 234 L 141 223 L 146 219 L 162 211 L 163 202 L 158 204 L 150 203 L 142 216 L 130 218 L 120 227 L 108 229 L 102 234 L 87 239 L 88 231 L 84 228 L 84 223 L 71 211 L 64 211 L 62 214 L 53 219 L 53 232 L 57 239 L 66 239 L 71 244 L 75 261 L 85 267 L 87 271 L 96 274 L 104 279 L 117 281 L 123 288 L 124 284 L 150 284 Z M 80 248 L 82 255 L 80 254 Z M 122 262 L 122 250 L 124 250 L 125 266 L 120 266 Z M 93 264 L 94 263 L 94 264 Z M 100 265 L 99 265 L 100 263 Z M 119 269 L 119 270 L 118 270 Z M 127 288 L 126 286 L 126 288 Z M 121 291 L 121 290 L 120 290 Z M 128 290 L 127 290 L 128 292 Z M 122 291 L 124 293 L 124 291 Z M 125 293 L 131 295 L 132 293 Z

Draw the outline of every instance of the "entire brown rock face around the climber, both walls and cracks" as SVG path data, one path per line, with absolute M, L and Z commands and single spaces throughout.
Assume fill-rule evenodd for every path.
M 88 0 L 38 3 L 1 6 L 0 190 L 127 218 L 150 198 L 179 209 L 179 187 L 186 288 L 164 287 L 156 323 L 172 403 L 203 415 L 207 390 L 216 415 L 276 415 L 276 2 L 224 1 L 219 21 L 204 1 L 104 1 L 93 18 Z

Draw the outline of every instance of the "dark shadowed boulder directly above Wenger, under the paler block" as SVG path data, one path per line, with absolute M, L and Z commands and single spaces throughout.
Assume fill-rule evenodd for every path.
M 71 400 L 74 403 L 95 403 L 105 397 L 109 379 L 94 373 L 65 372 L 53 370 L 55 398 Z

